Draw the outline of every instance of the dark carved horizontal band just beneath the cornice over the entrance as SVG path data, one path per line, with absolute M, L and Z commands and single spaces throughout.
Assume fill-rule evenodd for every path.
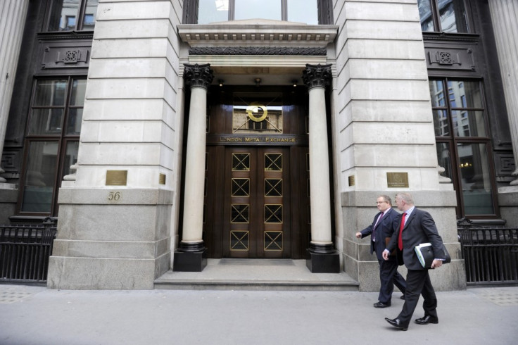
M 196 46 L 189 49 L 189 55 L 281 55 L 281 56 L 325 56 L 325 48 L 286 46 Z

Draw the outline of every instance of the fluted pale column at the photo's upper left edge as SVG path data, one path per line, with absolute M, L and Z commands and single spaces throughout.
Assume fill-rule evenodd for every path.
M 4 151 L 9 106 L 22 44 L 29 0 L 6 0 L 0 3 L 0 156 Z M 4 170 L 0 165 L 0 174 Z M 0 189 L 13 189 L 0 177 Z

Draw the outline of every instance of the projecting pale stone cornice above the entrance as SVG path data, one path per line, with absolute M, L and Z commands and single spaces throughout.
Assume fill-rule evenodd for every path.
M 206 25 L 177 25 L 189 46 L 326 47 L 334 41 L 336 25 L 306 25 L 277 20 L 234 20 Z

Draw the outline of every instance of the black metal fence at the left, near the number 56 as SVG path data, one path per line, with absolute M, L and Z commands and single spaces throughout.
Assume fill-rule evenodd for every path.
M 0 282 L 45 282 L 56 223 L 0 225 Z

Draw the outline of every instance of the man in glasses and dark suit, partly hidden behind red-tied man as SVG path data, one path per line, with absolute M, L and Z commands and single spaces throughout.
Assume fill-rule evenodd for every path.
M 392 200 L 389 196 L 380 195 L 377 198 L 377 206 L 379 213 L 374 216 L 372 224 L 360 232 L 356 232 L 356 238 L 362 239 L 370 235 L 370 253 L 376 253 L 379 263 L 379 280 L 381 287 L 379 289 L 378 302 L 374 303 L 374 308 L 386 308 L 391 306 L 392 291 L 394 284 L 403 292 L 402 299 L 405 296 L 407 284 L 405 279 L 398 273 L 398 263 L 396 256 L 389 256 L 388 260 L 382 257 L 385 250 L 387 237 L 392 237 L 394 232 L 393 222 L 399 213 L 392 209 Z

